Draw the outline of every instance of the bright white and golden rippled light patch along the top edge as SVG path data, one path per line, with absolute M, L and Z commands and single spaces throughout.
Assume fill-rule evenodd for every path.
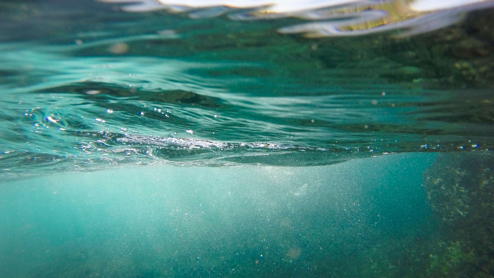
M 101 0 L 129 3 L 122 9 L 188 12 L 191 18 L 228 14 L 234 20 L 297 17 L 307 23 L 286 26 L 282 33 L 307 37 L 359 36 L 402 30 L 410 36 L 452 25 L 465 12 L 494 6 L 493 0 Z

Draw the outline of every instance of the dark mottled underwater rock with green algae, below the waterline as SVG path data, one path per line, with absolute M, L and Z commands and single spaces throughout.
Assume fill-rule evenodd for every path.
M 429 273 L 492 277 L 494 273 L 494 156 L 443 154 L 424 173 L 424 188 L 440 220 L 442 248 L 431 254 Z M 446 248 L 444 248 L 446 246 Z M 442 250 L 442 251 L 441 251 Z

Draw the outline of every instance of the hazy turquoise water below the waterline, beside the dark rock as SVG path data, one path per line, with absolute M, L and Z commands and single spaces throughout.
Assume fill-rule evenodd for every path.
M 4 277 L 366 277 L 386 263 L 377 275 L 397 275 L 411 254 L 396 249 L 434 231 L 420 185 L 434 157 L 158 164 L 6 183 L 0 267 Z

